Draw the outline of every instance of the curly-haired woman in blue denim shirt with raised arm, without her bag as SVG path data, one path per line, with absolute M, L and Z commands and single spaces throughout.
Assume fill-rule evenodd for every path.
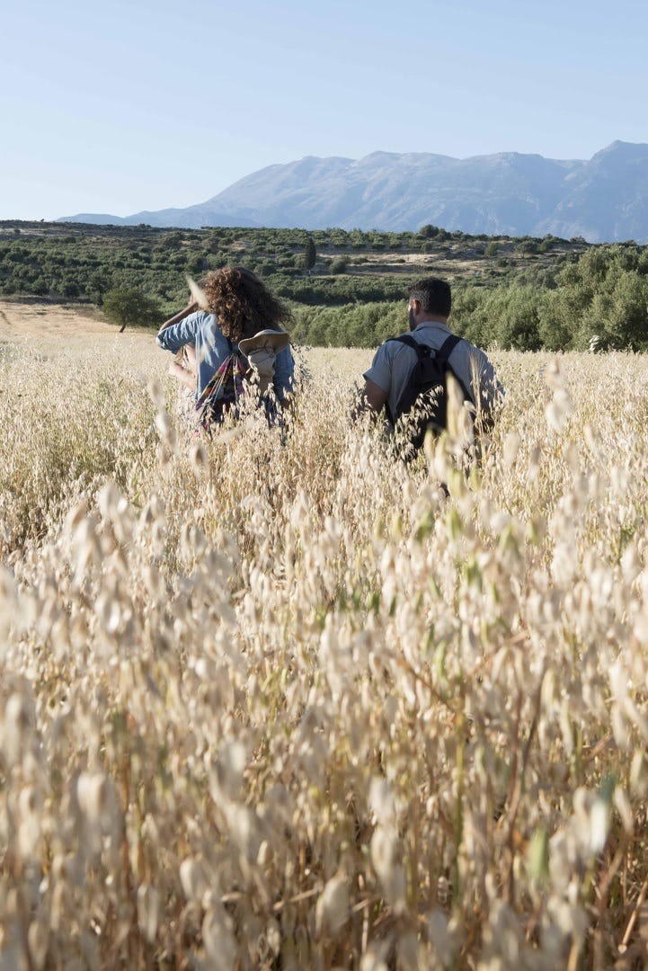
M 167 320 L 157 335 L 158 347 L 184 352 L 169 373 L 195 393 L 200 401 L 221 365 L 239 350 L 253 363 L 253 352 L 275 348 L 272 385 L 283 403 L 293 385 L 294 361 L 281 328 L 291 314 L 249 270 L 226 266 L 208 273 L 201 284 L 201 305 L 192 301 Z M 202 307 L 202 309 L 201 309 Z M 276 337 L 274 336 L 276 333 Z M 279 336 L 280 335 L 280 336 Z

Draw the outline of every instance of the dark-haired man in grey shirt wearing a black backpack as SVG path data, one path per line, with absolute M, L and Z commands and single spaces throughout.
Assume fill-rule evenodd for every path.
M 457 381 L 479 430 L 489 426 L 502 400 L 502 385 L 483 351 L 452 333 L 450 285 L 437 277 L 409 290 L 409 334 L 385 341 L 364 375 L 364 398 L 376 413 L 383 407 L 392 426 L 410 413 L 410 441 L 420 447 L 428 427 L 446 422 L 446 376 Z

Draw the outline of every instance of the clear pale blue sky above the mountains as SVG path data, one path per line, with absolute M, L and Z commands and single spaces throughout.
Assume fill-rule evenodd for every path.
M 17 0 L 0 218 L 203 202 L 305 155 L 648 142 L 645 0 Z

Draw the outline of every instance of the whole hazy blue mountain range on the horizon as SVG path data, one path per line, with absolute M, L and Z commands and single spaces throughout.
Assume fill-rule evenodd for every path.
M 270 165 L 186 209 L 62 222 L 151 226 L 268 226 L 447 230 L 590 243 L 648 242 L 648 145 L 613 142 L 589 161 L 502 152 L 450 158 L 375 151 Z

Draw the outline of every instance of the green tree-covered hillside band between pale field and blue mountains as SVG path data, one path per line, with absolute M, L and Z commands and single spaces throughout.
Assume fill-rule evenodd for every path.
M 434 258 L 422 267 L 412 253 Z M 648 248 L 632 241 L 472 237 L 433 225 L 307 233 L 0 224 L 1 295 L 81 301 L 116 322 L 154 326 L 182 305 L 187 274 L 241 263 L 291 305 L 296 340 L 333 347 L 374 347 L 405 329 L 407 288 L 436 272 L 437 259 L 453 284 L 453 326 L 475 344 L 648 350 Z

